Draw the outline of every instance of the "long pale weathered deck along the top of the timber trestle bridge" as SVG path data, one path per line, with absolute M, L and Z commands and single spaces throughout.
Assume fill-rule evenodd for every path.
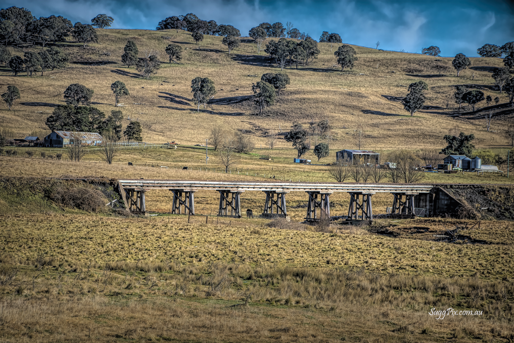
M 363 192 L 363 193 L 429 193 L 435 186 L 431 184 L 360 184 L 360 183 L 317 183 L 317 182 L 253 182 L 253 181 L 213 181 L 213 180 L 118 180 L 123 188 L 138 190 L 183 189 L 183 190 L 231 190 L 275 191 L 275 192 Z

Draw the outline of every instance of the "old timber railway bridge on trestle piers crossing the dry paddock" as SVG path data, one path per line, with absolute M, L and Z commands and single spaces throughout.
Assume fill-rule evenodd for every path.
M 145 214 L 144 193 L 153 189 L 168 189 L 173 192 L 171 212 L 174 214 L 195 214 L 194 193 L 201 190 L 219 192 L 218 215 L 241 218 L 241 193 L 262 191 L 266 201 L 263 216 L 273 218 L 286 216 L 286 194 L 307 193 L 305 220 L 316 221 L 321 211 L 330 216 L 329 196 L 334 192 L 350 194 L 348 219 L 372 219 L 372 195 L 393 194 L 393 214 L 413 214 L 415 208 L 425 209 L 427 215 L 444 214 L 458 206 L 458 202 L 436 185 L 427 184 L 355 184 L 314 182 L 252 182 L 214 180 L 119 180 L 120 192 L 125 207 L 131 212 Z

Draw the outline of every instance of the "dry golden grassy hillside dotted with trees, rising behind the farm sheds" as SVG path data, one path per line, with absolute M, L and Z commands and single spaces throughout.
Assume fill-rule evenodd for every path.
M 209 105 L 206 110 L 196 112 L 191 99 L 191 80 L 194 77 L 209 77 L 216 85 L 215 98 L 235 97 L 251 94 L 252 82 L 274 67 L 265 52 L 256 52 L 251 39 L 243 38 L 241 47 L 229 57 L 220 37 L 205 35 L 200 50 L 190 33 L 185 31 L 151 30 L 99 30 L 98 44 L 85 49 L 75 43 L 63 44 L 71 56 L 69 67 L 47 71 L 44 76 L 26 78 L 12 77 L 2 69 L 3 84 L 14 84 L 20 88 L 22 99 L 15 111 L 3 109 L 0 125 L 14 130 L 22 137 L 33 130 L 45 129 L 45 118 L 53 106 L 63 103 L 62 93 L 70 83 L 81 83 L 95 90 L 93 105 L 105 113 L 115 109 L 110 85 L 116 80 L 125 82 L 131 96 L 123 99 L 125 118 L 139 119 L 143 125 L 146 141 L 178 140 L 194 144 L 205 141 L 214 125 L 224 125 L 233 130 L 244 129 L 255 137 L 257 146 L 267 146 L 269 130 L 287 131 L 294 121 L 305 125 L 311 120 L 329 119 L 332 126 L 331 148 L 356 148 L 354 130 L 360 125 L 366 131 L 365 149 L 420 149 L 441 148 L 443 136 L 449 131 L 464 131 L 476 136 L 478 148 L 506 148 L 505 127 L 511 115 L 495 118 L 489 132 L 485 120 L 449 117 L 445 110 L 419 111 L 414 117 L 402 109 L 397 101 L 384 96 L 402 97 L 410 83 L 419 80 L 429 85 L 426 105 L 446 109 L 453 102 L 456 84 L 478 84 L 487 88 L 484 92 L 493 98 L 499 96 L 490 71 L 475 70 L 475 67 L 499 67 L 501 59 L 471 58 L 472 67 L 456 77 L 451 68 L 452 58 L 434 58 L 413 53 L 381 51 L 355 46 L 358 61 L 352 70 L 341 72 L 336 65 L 329 43 L 320 43 L 318 59 L 306 66 L 286 68 L 291 84 L 284 89 L 275 105 L 265 110 L 264 116 L 251 101 L 233 105 Z M 167 61 L 164 47 L 170 43 L 180 44 L 184 49 L 181 64 L 162 63 L 151 80 L 143 80 L 137 71 L 121 64 L 121 54 L 127 39 L 134 40 L 140 51 L 157 50 L 160 60 Z M 26 48 L 34 49 L 38 48 Z M 25 49 L 25 50 L 26 50 Z M 23 51 L 13 50 L 22 55 Z M 438 76 L 433 69 L 437 63 L 449 66 L 447 73 Z M 408 71 L 405 71 L 408 70 Z M 363 75 L 361 75 L 363 74 Z M 258 77 L 253 77 L 256 75 Z M 472 76 L 474 75 L 474 76 Z M 474 80 L 471 80 L 474 78 Z M 501 102 L 506 102 L 504 94 Z M 141 103 L 136 105 L 134 103 Z M 485 106 L 485 102 L 479 104 Z M 128 120 L 124 121 L 124 125 Z M 279 140 L 279 147 L 290 147 Z M 333 159 L 333 157 L 332 157 Z

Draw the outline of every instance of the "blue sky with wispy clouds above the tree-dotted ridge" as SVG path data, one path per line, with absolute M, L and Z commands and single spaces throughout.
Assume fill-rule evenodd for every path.
M 442 56 L 478 56 L 485 43 L 514 41 L 514 3 L 509 0 L 426 1 L 235 1 L 235 0 L 0 0 L 2 8 L 25 7 L 36 17 L 63 15 L 90 23 L 99 13 L 114 17 L 113 28 L 155 29 L 165 17 L 195 13 L 231 24 L 243 35 L 262 22 L 287 21 L 319 40 L 336 32 L 344 43 L 420 52 L 436 45 Z

